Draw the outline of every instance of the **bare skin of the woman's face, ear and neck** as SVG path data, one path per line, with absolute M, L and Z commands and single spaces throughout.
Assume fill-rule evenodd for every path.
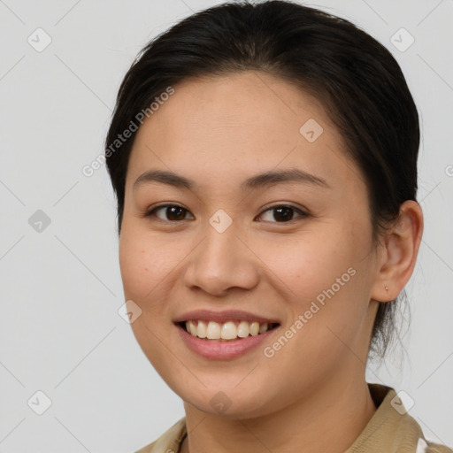
M 182 452 L 342 453 L 376 407 L 365 363 L 378 307 L 402 291 L 423 232 L 416 202 L 372 247 L 365 181 L 346 157 L 342 137 L 316 99 L 265 73 L 184 81 L 140 127 L 127 169 L 119 263 L 126 300 L 142 315 L 132 323 L 144 354 L 186 412 Z M 324 132 L 308 142 L 299 128 L 315 119 Z M 242 180 L 298 168 L 326 180 L 276 184 L 247 193 Z M 152 182 L 145 171 L 195 180 L 188 190 Z M 157 203 L 176 203 L 178 216 Z M 269 210 L 293 204 L 280 220 Z M 209 219 L 223 209 L 225 232 Z M 265 211 L 267 210 L 267 211 Z M 157 217 L 157 215 L 159 217 Z M 160 218 L 160 219 L 159 219 Z M 275 353 L 263 349 L 352 267 L 356 274 Z M 385 287 L 388 287 L 386 291 Z M 196 309 L 240 309 L 280 319 L 263 346 L 231 360 L 197 356 L 173 319 Z M 219 412 L 211 398 L 224 392 Z

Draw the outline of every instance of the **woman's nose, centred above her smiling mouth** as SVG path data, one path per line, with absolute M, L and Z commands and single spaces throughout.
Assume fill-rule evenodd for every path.
M 232 226 L 219 233 L 211 225 L 188 256 L 184 282 L 212 296 L 225 296 L 230 288 L 252 289 L 259 280 L 259 259 Z

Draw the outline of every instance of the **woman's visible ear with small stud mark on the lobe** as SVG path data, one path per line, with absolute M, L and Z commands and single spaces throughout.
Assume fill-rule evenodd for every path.
M 407 200 L 401 205 L 399 218 L 380 250 L 371 293 L 373 300 L 388 302 L 401 293 L 415 267 L 422 234 L 421 207 L 417 202 Z

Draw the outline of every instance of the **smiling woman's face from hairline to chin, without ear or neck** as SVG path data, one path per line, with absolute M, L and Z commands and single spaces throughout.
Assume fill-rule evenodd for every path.
M 224 403 L 236 418 L 363 380 L 377 258 L 365 181 L 340 134 L 315 99 L 264 73 L 173 88 L 135 137 L 119 239 L 144 354 L 186 404 L 214 414 Z M 150 171 L 191 185 L 134 185 Z M 255 178 L 271 172 L 283 176 Z M 278 326 L 202 340 L 175 322 L 198 310 Z

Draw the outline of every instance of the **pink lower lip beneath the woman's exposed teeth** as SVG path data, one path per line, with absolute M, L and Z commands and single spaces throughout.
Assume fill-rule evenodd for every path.
M 188 334 L 188 332 L 186 332 L 179 324 L 176 325 L 176 327 L 178 328 L 182 341 L 186 343 L 188 349 L 211 360 L 227 360 L 240 357 L 251 349 L 256 348 L 279 328 L 279 326 L 277 326 L 272 330 L 268 330 L 265 334 L 258 334 L 255 336 L 249 335 L 234 341 L 215 342 L 213 340 L 203 340 L 192 334 Z

